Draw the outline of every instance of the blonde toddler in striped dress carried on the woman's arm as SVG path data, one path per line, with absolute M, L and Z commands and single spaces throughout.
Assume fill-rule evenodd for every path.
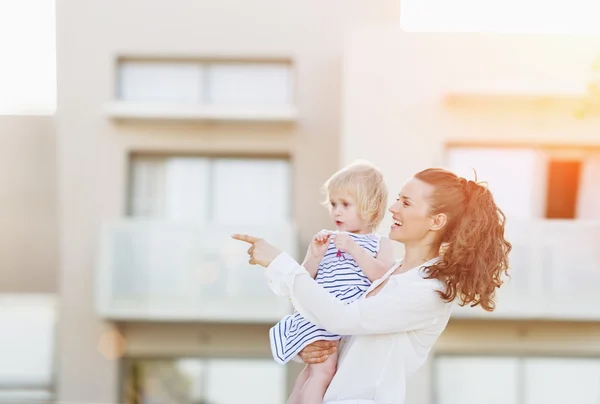
M 336 230 L 322 230 L 313 237 L 303 266 L 323 288 L 350 303 L 363 296 L 371 282 L 383 276 L 394 263 L 390 240 L 374 233 L 385 215 L 387 187 L 381 172 L 362 162 L 335 173 L 324 189 Z M 269 336 L 273 357 L 281 364 L 312 342 L 341 338 L 298 312 L 279 321 Z M 288 403 L 322 403 L 336 365 L 337 354 L 324 363 L 307 365 Z

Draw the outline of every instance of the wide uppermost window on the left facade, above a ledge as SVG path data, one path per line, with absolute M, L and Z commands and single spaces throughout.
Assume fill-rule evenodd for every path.
M 119 63 L 118 98 L 212 106 L 289 106 L 287 62 L 128 61 Z

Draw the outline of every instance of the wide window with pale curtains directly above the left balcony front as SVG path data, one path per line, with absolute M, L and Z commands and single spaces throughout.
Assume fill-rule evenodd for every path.
M 291 218 L 284 159 L 134 157 L 130 214 L 219 224 L 266 224 Z

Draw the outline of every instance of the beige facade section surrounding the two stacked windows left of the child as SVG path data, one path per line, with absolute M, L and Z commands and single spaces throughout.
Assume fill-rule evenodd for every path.
M 101 221 L 124 213 L 128 154 L 289 154 L 294 218 L 305 245 L 327 225 L 319 187 L 339 166 L 344 32 L 348 24 L 397 15 L 397 2 L 388 0 L 57 1 L 59 400 L 117 400 L 118 363 L 96 349 L 113 325 L 95 315 L 93 266 Z M 251 128 L 113 123 L 101 110 L 113 98 L 113 68 L 120 55 L 290 57 L 299 121 Z

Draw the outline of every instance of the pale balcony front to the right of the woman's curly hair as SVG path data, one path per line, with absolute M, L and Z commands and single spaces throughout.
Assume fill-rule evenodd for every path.
M 600 321 L 600 221 L 508 221 L 510 280 L 497 309 L 457 307 L 458 318 Z

